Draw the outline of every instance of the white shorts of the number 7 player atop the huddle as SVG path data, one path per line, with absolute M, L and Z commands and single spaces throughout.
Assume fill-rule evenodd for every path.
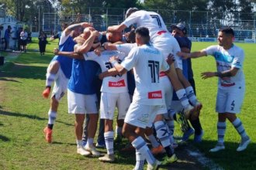
M 167 57 L 170 53 L 173 54 L 175 56 L 175 68 L 182 70 L 182 58 L 176 55 L 181 51 L 181 48 L 177 40 L 171 34 L 168 34 L 170 33 L 166 32 L 154 38 L 153 45 L 164 54 L 164 57 Z

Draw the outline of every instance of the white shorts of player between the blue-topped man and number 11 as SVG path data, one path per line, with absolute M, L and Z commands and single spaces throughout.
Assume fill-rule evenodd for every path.
M 118 109 L 118 119 L 124 119 L 130 106 L 130 94 L 102 92 L 100 100 L 100 118 L 113 120 L 115 109 Z

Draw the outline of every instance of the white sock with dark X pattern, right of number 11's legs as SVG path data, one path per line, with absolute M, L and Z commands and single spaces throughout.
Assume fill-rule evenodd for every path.
M 154 128 L 157 131 L 157 138 L 161 141 L 161 145 L 165 148 L 170 146 L 170 135 L 168 133 L 167 126 L 164 124 L 164 121 L 154 122 Z

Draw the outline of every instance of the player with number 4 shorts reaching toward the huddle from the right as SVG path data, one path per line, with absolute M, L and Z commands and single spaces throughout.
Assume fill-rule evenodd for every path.
M 243 124 L 237 117 L 244 100 L 244 50 L 233 44 L 234 31 L 231 28 L 220 29 L 218 34 L 218 46 L 209 46 L 193 53 L 178 53 L 178 56 L 197 58 L 211 55 L 216 60 L 217 72 L 202 73 L 202 79 L 213 76 L 219 77 L 218 92 L 216 98 L 216 112 L 218 113 L 217 132 L 218 143 L 209 151 L 215 152 L 225 149 L 224 135 L 226 120 L 228 119 L 240 134 L 241 141 L 237 151 L 247 148 L 251 139 L 247 136 Z

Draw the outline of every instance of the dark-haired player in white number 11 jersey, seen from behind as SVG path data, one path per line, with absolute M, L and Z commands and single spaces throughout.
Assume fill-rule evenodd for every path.
M 170 76 L 170 68 L 163 54 L 151 46 L 149 31 L 145 27 L 136 29 L 137 47 L 119 64 L 113 56 L 109 61 L 119 73 L 126 73 L 133 69 L 136 89 L 133 102 L 130 104 L 123 125 L 123 134 L 136 148 L 137 164 L 135 169 L 143 169 L 144 159 L 147 160 L 147 169 L 157 169 L 158 162 L 150 153 L 146 142 L 142 138 L 145 128 L 151 127 L 156 113 L 167 111 L 164 104 L 164 95 L 159 81 L 161 70 Z M 109 70 L 110 71 L 110 70 Z

